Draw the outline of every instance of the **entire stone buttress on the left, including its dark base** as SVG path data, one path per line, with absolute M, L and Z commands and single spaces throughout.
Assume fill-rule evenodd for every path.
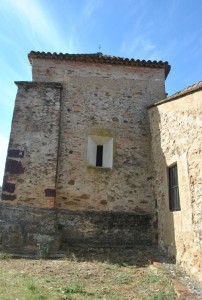
M 55 218 L 61 85 L 17 82 L 0 209 L 0 249 L 59 249 Z M 38 208 L 38 209 L 37 209 Z M 46 208 L 46 210 L 43 210 Z M 51 210 L 52 209 L 52 210 Z

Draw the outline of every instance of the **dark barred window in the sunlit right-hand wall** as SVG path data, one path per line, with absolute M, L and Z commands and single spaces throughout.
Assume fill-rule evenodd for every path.
M 168 168 L 169 173 L 169 208 L 170 211 L 180 210 L 177 164 Z

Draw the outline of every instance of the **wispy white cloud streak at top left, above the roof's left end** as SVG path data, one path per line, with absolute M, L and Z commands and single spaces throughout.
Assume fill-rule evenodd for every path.
M 34 50 L 40 50 L 43 45 L 46 45 L 46 48 L 53 49 L 53 51 L 74 51 L 72 37 L 70 36 L 66 41 L 63 39 L 57 24 L 45 11 L 41 2 L 8 0 L 8 6 L 4 9 L 7 9 L 8 19 L 10 18 L 10 10 L 17 16 L 22 28 L 21 32 L 18 31 L 18 34 L 21 38 L 24 35 Z

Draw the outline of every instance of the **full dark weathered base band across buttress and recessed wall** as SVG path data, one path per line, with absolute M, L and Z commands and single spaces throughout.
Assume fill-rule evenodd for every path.
M 150 245 L 151 216 L 80 212 L 0 204 L 0 248 L 14 253 L 50 253 L 70 246 Z

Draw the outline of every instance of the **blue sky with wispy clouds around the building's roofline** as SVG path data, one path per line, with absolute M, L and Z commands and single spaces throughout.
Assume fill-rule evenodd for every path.
M 202 79 L 201 16 L 201 0 L 0 0 L 0 184 L 31 50 L 168 61 L 171 95 Z

